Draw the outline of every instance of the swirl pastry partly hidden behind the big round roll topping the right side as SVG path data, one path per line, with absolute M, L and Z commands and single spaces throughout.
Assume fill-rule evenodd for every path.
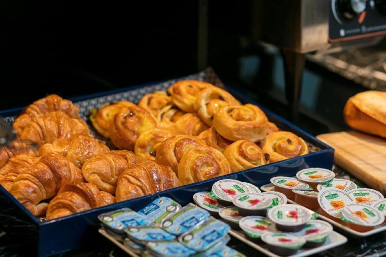
M 200 91 L 195 101 L 194 109 L 208 126 L 213 126 L 213 115 L 218 108 L 226 105 L 240 105 L 230 93 L 216 86 Z

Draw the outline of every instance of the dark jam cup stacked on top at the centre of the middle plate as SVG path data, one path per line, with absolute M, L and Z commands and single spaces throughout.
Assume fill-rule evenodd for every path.
M 299 232 L 311 220 L 311 215 L 303 206 L 286 204 L 269 209 L 267 218 L 276 224 L 279 231 Z

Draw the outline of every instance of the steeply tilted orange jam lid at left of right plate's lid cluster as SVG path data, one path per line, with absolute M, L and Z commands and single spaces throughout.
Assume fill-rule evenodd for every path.
M 329 215 L 339 218 L 342 208 L 353 203 L 353 199 L 340 189 L 323 189 L 318 194 L 318 203 Z

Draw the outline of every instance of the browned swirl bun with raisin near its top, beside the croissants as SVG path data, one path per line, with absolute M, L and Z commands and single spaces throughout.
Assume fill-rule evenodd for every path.
M 110 138 L 119 149 L 134 150 L 137 137 L 149 128 L 157 127 L 158 122 L 147 110 L 130 106 L 117 112 L 110 125 Z

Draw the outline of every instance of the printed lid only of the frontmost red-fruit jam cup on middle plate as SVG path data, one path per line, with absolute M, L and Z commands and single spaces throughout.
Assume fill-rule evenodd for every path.
M 279 247 L 299 249 L 305 243 L 306 239 L 292 233 L 283 232 L 267 232 L 261 236 L 261 240 L 269 245 L 276 245 Z

